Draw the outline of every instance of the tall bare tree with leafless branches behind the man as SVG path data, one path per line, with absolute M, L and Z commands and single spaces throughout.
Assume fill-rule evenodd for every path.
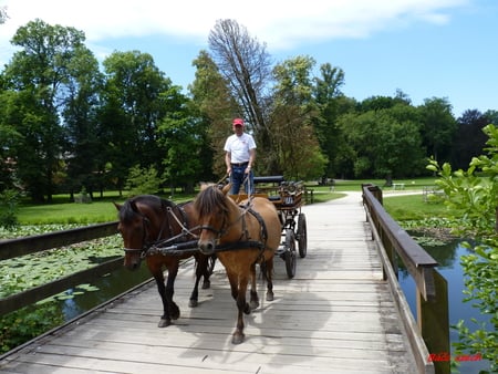
M 229 19 L 216 22 L 208 42 L 212 60 L 239 104 L 239 111 L 232 116 L 245 117 L 248 129 L 253 132 L 258 148 L 261 149 L 258 159 L 268 164 L 264 157 L 271 143 L 266 93 L 271 76 L 271 61 L 266 44 L 259 43 L 245 27 Z

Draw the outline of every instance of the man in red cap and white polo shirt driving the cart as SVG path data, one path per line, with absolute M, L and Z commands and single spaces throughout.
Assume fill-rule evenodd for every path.
M 232 122 L 234 135 L 227 138 L 224 147 L 225 164 L 231 183 L 231 195 L 239 193 L 242 183 L 246 194 L 255 194 L 252 164 L 256 158 L 256 143 L 252 135 L 243 132 L 243 120 L 235 118 Z

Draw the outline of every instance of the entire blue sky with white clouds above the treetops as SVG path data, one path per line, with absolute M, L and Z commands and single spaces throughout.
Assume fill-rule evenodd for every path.
M 413 105 L 446 98 L 455 117 L 498 111 L 496 0 L 0 0 L 0 67 L 19 27 L 41 19 L 85 33 L 98 61 L 114 51 L 149 53 L 176 85 L 195 79 L 216 21 L 245 27 L 274 63 L 309 55 L 343 70 L 342 92 L 362 101 L 395 96 Z

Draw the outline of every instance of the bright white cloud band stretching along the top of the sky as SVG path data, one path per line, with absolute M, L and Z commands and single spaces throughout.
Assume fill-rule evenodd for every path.
M 84 31 L 90 44 L 108 38 L 167 34 L 206 42 L 218 19 L 236 19 L 272 50 L 309 41 L 365 38 L 392 25 L 446 22 L 470 0 L 0 0 L 0 54 L 20 25 L 37 18 Z M 3 60 L 0 56 L 0 60 Z

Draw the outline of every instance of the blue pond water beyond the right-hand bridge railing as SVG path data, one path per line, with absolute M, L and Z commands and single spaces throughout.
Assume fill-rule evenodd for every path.
M 430 247 L 423 245 L 423 247 L 439 263 L 437 270 L 448 282 L 449 325 L 455 325 L 459 320 L 465 320 L 466 325 L 473 330 L 475 324 L 470 322 L 470 319 L 475 318 L 477 321 L 484 321 L 484 318 L 478 309 L 473 308 L 471 301 L 463 301 L 465 299 L 465 294 L 463 293 L 465 284 L 459 259 L 461 256 L 468 254 L 470 251 L 461 246 L 460 240 L 454 240 L 444 246 Z M 405 293 L 412 314 L 416 316 L 415 282 L 406 271 L 400 270 L 398 277 L 400 284 Z M 458 341 L 458 333 L 452 328 L 449 329 L 449 341 L 450 344 Z M 450 354 L 452 357 L 455 356 L 453 352 L 450 352 Z M 475 361 L 461 362 L 458 370 L 461 374 L 475 374 L 478 373 L 479 370 L 485 370 L 488 367 L 489 365 L 486 361 Z

